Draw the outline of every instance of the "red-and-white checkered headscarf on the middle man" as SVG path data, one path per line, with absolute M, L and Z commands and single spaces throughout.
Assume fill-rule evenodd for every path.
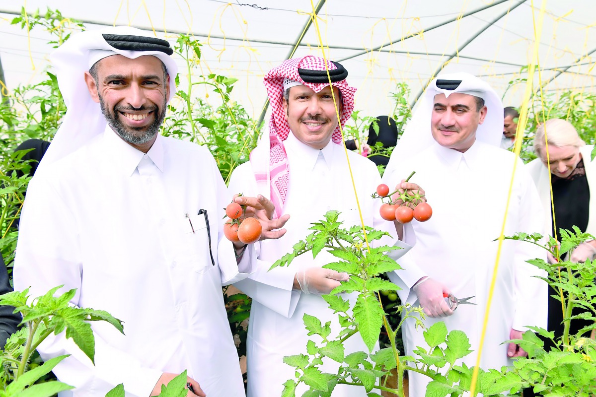
M 290 125 L 285 118 L 283 107 L 284 79 L 294 80 L 309 87 L 314 92 L 319 92 L 328 83 L 306 83 L 300 78 L 298 69 L 326 70 L 325 60 L 313 55 L 285 61 L 280 66 L 273 68 L 265 75 L 265 87 L 271 102 L 271 120 L 269 121 L 269 142 L 263 137 L 259 145 L 250 154 L 250 163 L 253 167 L 254 177 L 260 192 L 270 190 L 270 199 L 275 204 L 275 218 L 281 216 L 285 196 L 290 182 L 288 170 L 288 157 L 285 154 L 283 141 L 290 134 Z M 329 70 L 337 69 L 336 65 L 327 61 Z M 342 92 L 342 114 L 340 115 L 341 127 L 346 124 L 354 110 L 354 94 L 356 89 L 347 85 L 346 80 L 332 83 Z M 336 101 L 339 98 L 336 98 Z M 334 143 L 342 142 L 340 126 L 331 135 Z M 267 145 L 269 143 L 269 145 Z M 266 161 L 268 160 L 268 161 Z M 268 189 L 269 187 L 269 189 Z

